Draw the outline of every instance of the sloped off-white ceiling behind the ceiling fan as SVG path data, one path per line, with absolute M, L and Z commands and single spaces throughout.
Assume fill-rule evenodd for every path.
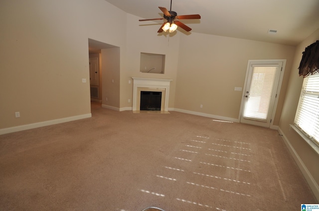
M 170 0 L 106 0 L 141 17 L 160 18 L 159 6 L 170 10 Z M 319 28 L 319 0 L 172 0 L 177 15 L 200 14 L 200 20 L 180 20 L 191 32 L 256 41 L 298 45 Z M 155 21 L 159 28 L 164 20 Z M 140 22 L 148 27 L 152 21 Z M 269 29 L 276 34 L 267 33 Z M 157 32 L 155 32 L 157 33 Z M 155 35 L 156 36 L 156 35 Z

